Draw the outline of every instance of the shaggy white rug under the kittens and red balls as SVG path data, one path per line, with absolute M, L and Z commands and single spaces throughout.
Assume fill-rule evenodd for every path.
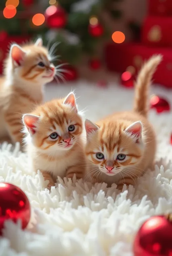
M 72 85 L 80 109 L 93 121 L 115 110 L 130 109 L 133 91 L 117 85 L 102 89 L 86 82 Z M 47 86 L 46 100 L 64 96 L 71 85 Z M 172 91 L 151 91 L 172 103 Z M 152 93 L 151 92 L 151 93 Z M 150 93 L 150 94 L 151 94 Z M 0 239 L 0 256 L 132 256 L 132 242 L 140 225 L 151 215 L 172 211 L 172 112 L 150 112 L 158 141 L 155 170 L 122 193 L 114 184 L 83 184 L 61 180 L 49 194 L 40 174 L 30 173 L 27 158 L 16 145 L 1 145 L 0 182 L 11 182 L 25 191 L 32 206 L 28 229 L 6 223 Z

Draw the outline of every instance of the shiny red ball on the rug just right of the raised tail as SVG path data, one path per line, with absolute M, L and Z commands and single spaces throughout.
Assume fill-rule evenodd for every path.
M 157 95 L 152 96 L 150 103 L 151 109 L 155 108 L 157 113 L 170 110 L 169 102 L 166 99 L 161 98 Z

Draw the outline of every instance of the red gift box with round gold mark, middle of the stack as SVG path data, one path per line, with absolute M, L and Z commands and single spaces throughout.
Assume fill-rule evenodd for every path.
M 142 43 L 149 46 L 172 46 L 172 17 L 149 16 L 144 20 Z

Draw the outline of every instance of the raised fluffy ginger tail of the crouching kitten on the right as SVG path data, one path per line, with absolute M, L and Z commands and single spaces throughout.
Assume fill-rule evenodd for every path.
M 148 89 L 151 84 L 153 73 L 162 60 L 161 55 L 153 55 L 140 70 L 135 84 L 134 111 L 147 117 Z

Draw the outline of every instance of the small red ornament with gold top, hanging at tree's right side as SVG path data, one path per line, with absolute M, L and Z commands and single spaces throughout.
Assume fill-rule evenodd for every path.
M 99 37 L 103 35 L 104 29 L 99 23 L 97 17 L 91 17 L 88 27 L 89 34 L 94 37 Z

